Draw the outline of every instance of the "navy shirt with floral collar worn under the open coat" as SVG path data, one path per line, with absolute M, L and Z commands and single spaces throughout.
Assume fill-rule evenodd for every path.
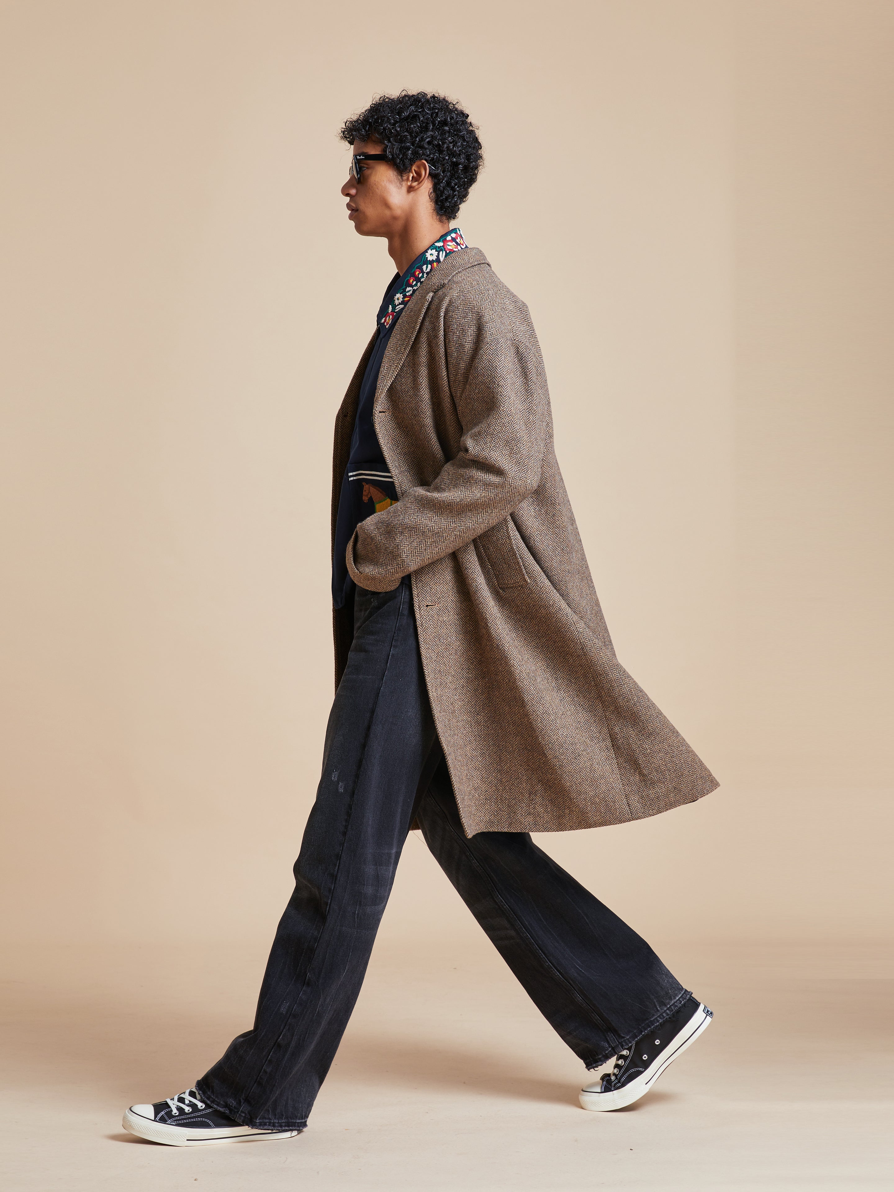
M 373 426 L 373 401 L 385 348 L 397 325 L 401 311 L 432 269 L 437 267 L 447 253 L 454 253 L 465 247 L 459 228 L 452 228 L 447 235 L 420 253 L 404 273 L 393 275 L 381 299 L 379 312 L 375 316 L 378 323 L 375 342 L 366 362 L 364 379 L 360 383 L 354 434 L 350 439 L 350 454 L 339 496 L 333 554 L 334 608 L 341 608 L 354 589 L 354 581 L 348 575 L 348 566 L 344 561 L 344 552 L 354 530 L 366 517 L 387 509 L 397 501 L 395 482 L 391 479 L 391 472 L 389 472 L 389 466 L 381 454 Z

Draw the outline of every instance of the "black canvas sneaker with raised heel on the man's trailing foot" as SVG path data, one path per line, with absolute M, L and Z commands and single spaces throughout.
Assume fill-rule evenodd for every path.
M 708 1026 L 713 1012 L 695 998 L 684 1001 L 676 1013 L 615 1056 L 613 1070 L 598 1085 L 581 1089 L 585 1110 L 620 1110 L 639 1100 L 654 1087 L 668 1064 L 695 1043 Z

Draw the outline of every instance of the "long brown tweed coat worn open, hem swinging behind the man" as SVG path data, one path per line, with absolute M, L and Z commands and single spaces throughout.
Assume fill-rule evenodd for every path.
M 333 534 L 371 349 L 336 420 Z M 466 833 L 621 824 L 714 790 L 615 657 L 553 452 L 528 308 L 480 249 L 448 256 L 414 294 L 373 421 L 399 501 L 360 523 L 348 571 L 373 591 L 411 573 Z M 352 606 L 335 611 L 336 684 Z

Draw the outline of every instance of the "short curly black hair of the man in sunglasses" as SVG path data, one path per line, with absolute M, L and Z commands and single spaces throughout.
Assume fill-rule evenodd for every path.
M 365 112 L 344 122 L 339 136 L 348 144 L 378 141 L 402 174 L 415 161 L 427 161 L 430 198 L 442 219 L 455 218 L 482 166 L 482 142 L 468 112 L 424 91 L 377 95 Z

